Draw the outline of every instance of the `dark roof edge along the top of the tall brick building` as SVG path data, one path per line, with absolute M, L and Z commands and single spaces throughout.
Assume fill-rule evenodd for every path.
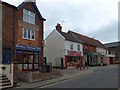
M 29 2 L 29 1 L 31 2 L 31 0 L 25 0 L 25 1 L 22 2 L 18 7 L 14 6 L 14 5 L 11 5 L 11 4 L 8 4 L 8 3 L 6 3 L 6 2 L 3 2 L 3 1 L 0 1 L 0 2 L 2 2 L 3 4 L 9 5 L 10 7 L 14 7 L 14 8 L 16 8 L 16 9 L 20 9 L 20 8 L 22 8 L 22 7 L 24 6 L 25 3 Z M 36 3 L 35 3 L 35 2 L 31 2 L 31 3 L 32 3 L 32 5 L 34 6 L 34 8 L 35 8 L 38 16 L 40 17 L 40 19 L 43 20 L 43 21 L 45 21 L 46 19 L 44 19 L 44 18 L 42 17 L 40 11 L 38 10 L 38 8 L 37 8 L 37 6 L 36 6 Z

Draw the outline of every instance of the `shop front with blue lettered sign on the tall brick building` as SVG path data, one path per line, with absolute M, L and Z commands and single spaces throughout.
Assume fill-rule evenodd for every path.
M 40 48 L 16 45 L 16 49 L 16 64 L 20 70 L 36 71 L 39 69 Z

